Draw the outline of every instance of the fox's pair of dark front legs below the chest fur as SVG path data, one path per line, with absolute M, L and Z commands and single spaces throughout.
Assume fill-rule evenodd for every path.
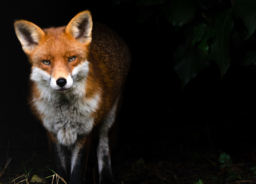
M 91 135 L 78 138 L 72 146 L 58 144 L 56 139 L 53 134 L 48 133 L 54 172 L 66 183 L 84 183 Z M 64 182 L 59 179 L 58 183 Z

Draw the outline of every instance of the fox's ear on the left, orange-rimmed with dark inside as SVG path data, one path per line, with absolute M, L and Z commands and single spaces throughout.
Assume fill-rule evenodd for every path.
M 40 27 L 25 20 L 14 21 L 14 29 L 25 53 L 34 50 L 45 34 Z

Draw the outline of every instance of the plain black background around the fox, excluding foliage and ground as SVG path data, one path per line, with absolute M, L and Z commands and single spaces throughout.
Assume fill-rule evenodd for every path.
M 253 71 L 231 65 L 220 81 L 218 66 L 211 63 L 182 91 L 172 55 L 184 35 L 176 32 L 164 16 L 159 26 L 153 19 L 136 22 L 136 2 L 112 6 L 112 1 L 9 1 L 2 8 L 1 168 L 7 157 L 12 158 L 13 170 L 26 165 L 34 154 L 50 158 L 45 130 L 27 105 L 30 65 L 13 21 L 26 19 L 40 27 L 62 26 L 85 9 L 92 11 L 93 21 L 115 29 L 131 50 L 132 67 L 119 118 L 119 158 L 175 162 L 193 151 L 218 155 L 220 150 L 232 156 L 255 149 Z

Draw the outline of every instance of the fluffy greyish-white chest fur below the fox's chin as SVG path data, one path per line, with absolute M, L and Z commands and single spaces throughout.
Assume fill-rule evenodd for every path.
M 73 145 L 77 135 L 86 135 L 93 128 L 91 115 L 97 109 L 99 95 L 82 101 L 81 98 L 58 96 L 52 101 L 35 102 L 37 109 L 44 115 L 46 129 L 57 135 L 62 145 Z

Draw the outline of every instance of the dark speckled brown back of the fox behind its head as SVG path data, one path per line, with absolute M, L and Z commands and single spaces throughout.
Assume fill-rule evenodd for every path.
M 97 61 L 104 62 L 113 81 L 124 83 L 131 62 L 131 55 L 124 40 L 108 26 L 93 22 L 91 51 Z

